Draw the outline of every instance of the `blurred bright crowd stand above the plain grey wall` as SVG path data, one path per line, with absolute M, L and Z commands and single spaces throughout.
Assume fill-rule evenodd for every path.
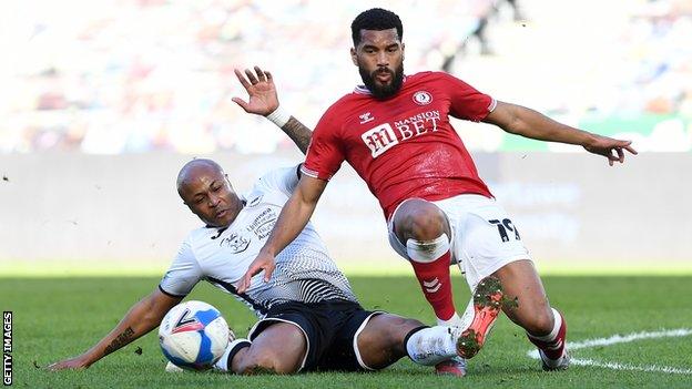
M 0 27 L 0 152 L 293 147 L 231 102 L 244 95 L 233 68 L 272 70 L 282 102 L 314 124 L 359 81 L 348 27 L 372 4 L 11 1 Z M 448 70 L 500 100 L 625 133 L 643 151 L 692 150 L 692 1 L 378 4 L 403 17 L 408 72 Z M 471 150 L 563 150 L 458 126 Z

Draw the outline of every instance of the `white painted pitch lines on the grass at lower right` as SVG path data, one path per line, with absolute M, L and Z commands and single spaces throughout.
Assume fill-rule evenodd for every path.
M 629 335 L 613 335 L 610 338 L 598 338 L 598 339 L 589 339 L 583 341 L 568 342 L 567 348 L 569 350 L 578 350 L 582 348 L 590 348 L 597 346 L 611 346 L 617 344 L 625 344 L 634 340 L 641 339 L 658 339 L 658 338 L 671 338 L 671 337 L 682 337 L 692 335 L 692 329 L 690 328 L 678 328 L 678 329 L 669 329 L 661 331 L 642 331 L 634 332 Z M 531 350 L 528 352 L 528 356 L 533 359 L 540 359 L 538 355 L 538 350 Z M 634 371 L 653 371 L 653 372 L 666 372 L 666 373 L 676 373 L 676 375 L 692 375 L 692 369 L 680 369 L 668 366 L 635 366 L 635 365 L 627 365 L 627 364 L 617 364 L 617 362 L 601 362 L 593 359 L 577 359 L 572 358 L 571 362 L 573 365 L 579 366 L 593 366 L 601 367 L 614 370 L 634 370 Z

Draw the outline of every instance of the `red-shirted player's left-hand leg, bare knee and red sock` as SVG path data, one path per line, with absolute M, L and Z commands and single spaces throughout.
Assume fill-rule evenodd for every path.
M 430 202 L 410 198 L 397 207 L 389 227 L 393 247 L 414 267 L 438 324 L 458 323 L 449 277 L 451 231 L 445 213 Z

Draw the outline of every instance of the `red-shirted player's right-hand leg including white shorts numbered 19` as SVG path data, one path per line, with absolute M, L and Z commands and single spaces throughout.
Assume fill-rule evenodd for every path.
M 557 311 L 553 315 L 529 253 L 505 209 L 493 199 L 472 195 L 438 204 L 455 217 L 455 255 L 469 286 L 475 288 L 484 277 L 496 276 L 506 299 L 517 299 L 518 306 L 506 305 L 505 313 L 526 329 L 541 352 L 566 366 L 566 321 Z

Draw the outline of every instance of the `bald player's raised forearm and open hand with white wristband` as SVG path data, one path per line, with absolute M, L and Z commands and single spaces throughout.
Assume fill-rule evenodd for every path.
M 298 146 L 303 154 L 306 153 L 313 132 L 301 121 L 291 116 L 278 105 L 278 95 L 272 73 L 263 71 L 260 66 L 254 68 L 254 73 L 245 69 L 245 73 L 235 69 L 235 76 L 245 88 L 248 101 L 241 98 L 233 98 L 233 102 L 238 104 L 245 112 L 262 115 L 279 126 L 288 137 Z

